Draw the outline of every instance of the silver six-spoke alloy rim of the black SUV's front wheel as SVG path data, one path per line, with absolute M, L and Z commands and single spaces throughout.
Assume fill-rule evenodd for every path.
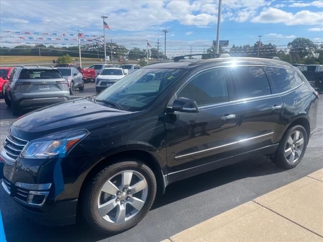
M 140 172 L 121 171 L 102 186 L 97 200 L 98 213 L 109 223 L 127 222 L 142 209 L 147 194 L 147 181 Z

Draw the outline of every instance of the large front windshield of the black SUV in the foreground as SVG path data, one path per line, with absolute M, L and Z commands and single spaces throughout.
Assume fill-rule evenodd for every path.
M 123 110 L 141 111 L 185 72 L 183 69 L 139 69 L 105 89 L 96 99 L 114 102 Z

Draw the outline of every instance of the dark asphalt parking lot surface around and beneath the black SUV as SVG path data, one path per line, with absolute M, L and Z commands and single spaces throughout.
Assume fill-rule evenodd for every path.
M 75 96 L 95 93 L 93 83 Z M 10 109 L 0 99 L 1 147 L 9 126 L 15 121 Z M 117 234 L 100 234 L 80 220 L 64 227 L 40 225 L 0 188 L 0 209 L 7 240 L 11 241 L 160 241 L 210 217 L 223 213 L 260 195 L 282 187 L 323 167 L 323 97 L 319 100 L 318 124 L 302 162 L 283 170 L 269 159 L 257 157 L 238 164 L 194 176 L 170 185 L 157 198 L 151 211 L 134 228 Z

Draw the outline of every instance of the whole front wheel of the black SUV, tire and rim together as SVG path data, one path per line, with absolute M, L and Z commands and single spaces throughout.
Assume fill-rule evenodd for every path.
M 92 227 L 103 232 L 121 232 L 135 226 L 154 201 L 154 173 L 143 162 L 128 160 L 100 170 L 85 187 L 83 215 Z

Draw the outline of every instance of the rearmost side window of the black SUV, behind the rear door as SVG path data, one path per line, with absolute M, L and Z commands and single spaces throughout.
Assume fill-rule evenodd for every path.
M 303 82 L 300 76 L 292 70 L 265 67 L 265 71 L 273 83 L 277 93 L 288 91 Z

